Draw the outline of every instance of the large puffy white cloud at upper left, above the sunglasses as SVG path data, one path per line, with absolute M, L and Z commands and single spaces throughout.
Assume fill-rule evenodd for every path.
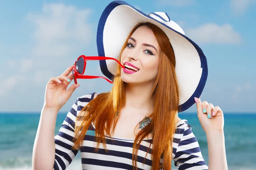
M 78 9 L 62 3 L 46 3 L 41 14 L 29 14 L 28 18 L 36 25 L 34 38 L 36 56 L 69 56 L 90 44 L 93 37 L 87 23 L 90 9 Z

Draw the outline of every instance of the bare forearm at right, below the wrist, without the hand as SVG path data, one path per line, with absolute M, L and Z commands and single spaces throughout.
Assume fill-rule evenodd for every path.
M 210 132 L 207 135 L 209 170 L 227 170 L 227 158 L 223 131 Z

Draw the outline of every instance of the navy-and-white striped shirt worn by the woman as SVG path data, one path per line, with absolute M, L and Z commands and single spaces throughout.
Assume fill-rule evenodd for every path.
M 81 163 L 83 170 L 133 170 L 132 150 L 134 139 L 113 138 L 105 136 L 108 153 L 105 152 L 103 144 L 99 145 L 99 151 L 94 153 L 96 142 L 94 142 L 95 127 L 90 125 L 84 137 L 83 147 L 72 150 L 72 138 L 74 137 L 74 125 L 76 116 L 79 115 L 82 108 L 93 99 L 95 93 L 87 94 L 76 99 L 70 111 L 55 136 L 55 162 L 54 170 L 65 170 L 72 162 L 76 154 L 81 152 Z M 113 141 L 111 139 L 114 139 Z M 138 151 L 137 167 L 138 170 L 151 169 L 151 150 L 146 156 L 149 144 L 152 139 L 143 139 Z M 145 164 L 143 164 L 144 158 Z M 186 119 L 177 123 L 173 139 L 172 159 L 178 170 L 208 170 L 204 162 L 201 150 L 195 135 Z M 160 163 L 163 162 L 161 157 Z

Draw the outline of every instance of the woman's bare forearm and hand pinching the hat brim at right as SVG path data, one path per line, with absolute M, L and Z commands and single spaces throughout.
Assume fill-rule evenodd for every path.
M 195 98 L 195 102 L 198 119 L 207 136 L 209 170 L 227 170 L 223 111 L 212 103 L 201 102 L 200 98 Z

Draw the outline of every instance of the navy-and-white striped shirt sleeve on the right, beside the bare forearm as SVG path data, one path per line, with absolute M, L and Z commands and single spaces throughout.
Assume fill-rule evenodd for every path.
M 178 170 L 208 170 L 198 141 L 187 121 L 177 126 L 173 144 L 173 160 Z

